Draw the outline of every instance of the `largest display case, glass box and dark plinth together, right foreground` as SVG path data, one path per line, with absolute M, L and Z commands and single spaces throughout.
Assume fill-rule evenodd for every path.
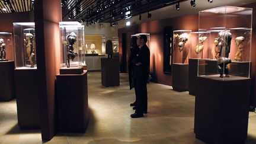
M 224 6 L 200 11 L 201 29 L 210 33 L 210 49 L 207 59 L 199 59 L 194 133 L 206 143 L 244 143 L 251 87 L 252 9 Z

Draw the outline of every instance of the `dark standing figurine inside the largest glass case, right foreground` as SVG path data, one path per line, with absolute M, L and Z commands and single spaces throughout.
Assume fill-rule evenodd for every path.
M 220 73 L 220 78 L 223 78 L 223 71 L 225 73 L 225 77 L 229 77 L 227 65 L 231 63 L 231 59 L 229 58 L 229 52 L 231 49 L 231 39 L 232 35 L 229 31 L 220 31 L 218 34 L 219 58 L 217 59 L 217 68 Z

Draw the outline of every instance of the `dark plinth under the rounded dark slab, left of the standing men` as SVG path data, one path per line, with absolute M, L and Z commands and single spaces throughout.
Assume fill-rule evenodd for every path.
M 101 59 L 101 84 L 105 87 L 119 86 L 119 59 Z

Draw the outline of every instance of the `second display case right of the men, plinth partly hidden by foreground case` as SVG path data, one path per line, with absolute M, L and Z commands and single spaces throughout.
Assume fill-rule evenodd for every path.
M 188 65 L 188 92 L 195 95 L 197 91 L 197 67 L 199 59 L 208 59 L 210 53 L 209 46 L 210 32 L 200 30 L 190 33 L 191 48 Z

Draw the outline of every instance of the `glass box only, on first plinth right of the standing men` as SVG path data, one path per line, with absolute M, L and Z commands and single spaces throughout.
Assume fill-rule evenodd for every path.
M 175 64 L 187 64 L 190 57 L 190 33 L 191 30 L 173 31 L 173 55 L 172 62 Z

